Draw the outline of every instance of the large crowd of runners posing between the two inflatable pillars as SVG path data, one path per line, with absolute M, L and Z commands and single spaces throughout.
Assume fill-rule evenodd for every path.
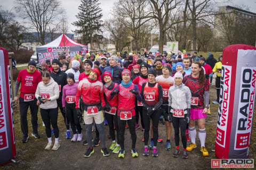
M 202 154 L 209 156 L 205 148 L 205 118 L 206 113 L 209 113 L 209 75 L 211 77 L 212 69 L 205 67 L 204 57 L 199 57 L 197 61 L 196 54 L 175 56 L 157 53 L 153 56 L 152 53 L 138 53 L 127 57 L 106 54 L 95 58 L 89 53 L 81 56 L 77 54 L 70 63 L 66 63 L 65 59 L 66 56 L 61 55 L 59 59 L 46 60 L 41 65 L 30 61 L 28 68 L 19 72 L 14 100 L 19 101 L 23 143 L 29 139 L 28 107 L 33 127 L 31 135 L 40 138 L 37 131 L 39 106 L 48 139 L 46 150 L 58 150 L 60 147 L 57 124 L 60 108 L 66 126 L 66 138 L 71 139 L 71 142 L 82 142 L 80 121 L 83 120 L 85 124 L 86 140 L 83 145 L 88 145 L 88 149 L 84 157 L 90 157 L 94 153 L 93 147 L 101 143 L 103 156 L 109 156 L 108 150 L 111 150 L 115 154 L 119 153 L 119 158 L 124 158 L 126 128 L 131 134 L 132 157 L 138 157 L 136 130 L 140 128 L 139 118 L 143 131 L 143 156 L 149 155 L 149 149 L 153 150 L 153 157 L 158 156 L 157 142 L 163 141 L 158 134 L 160 120 L 164 120 L 162 123 L 166 126 L 166 150 L 171 150 L 173 125 L 173 157 L 177 158 L 180 154 L 180 135 L 183 158 L 188 158 L 187 151 L 197 147 L 196 120 Z M 63 69 L 63 65 L 70 69 Z M 106 146 L 103 127 L 106 122 L 112 140 L 109 147 Z M 96 131 L 95 139 L 93 129 Z M 187 146 L 189 140 L 191 143 Z

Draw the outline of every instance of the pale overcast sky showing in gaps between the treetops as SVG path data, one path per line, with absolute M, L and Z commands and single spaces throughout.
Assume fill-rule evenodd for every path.
M 99 0 L 100 8 L 102 9 L 103 18 L 102 20 L 106 20 L 110 17 L 110 9 L 113 8 L 114 2 L 117 2 L 118 0 Z M 246 5 L 249 7 L 251 12 L 256 13 L 256 0 L 215 0 L 217 2 L 223 2 L 226 1 L 228 3 L 222 3 L 218 6 L 223 5 Z M 81 4 L 81 0 L 61 0 L 61 5 L 63 8 L 66 9 L 67 12 L 67 21 L 70 23 L 69 30 L 71 33 L 71 30 L 75 30 L 76 28 L 71 25 L 71 22 L 76 21 L 76 16 L 78 13 L 78 6 Z M 14 6 L 14 0 L 0 0 L 0 6 L 2 6 L 3 10 L 11 10 Z M 118 7 L 115 7 L 118 9 Z M 14 13 L 16 13 L 13 10 Z

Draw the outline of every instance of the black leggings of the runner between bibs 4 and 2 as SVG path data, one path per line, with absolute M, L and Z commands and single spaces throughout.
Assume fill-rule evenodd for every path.
M 119 137 L 118 137 L 119 129 L 118 129 L 118 123 L 117 123 L 117 111 L 116 111 L 116 115 L 111 115 L 111 114 L 105 112 L 105 116 L 106 116 L 107 121 L 108 121 L 109 132 L 110 132 L 112 141 L 116 140 L 116 138 L 115 138 L 115 130 L 114 130 L 114 125 L 115 125 L 116 136 L 117 136 L 117 144 L 119 144 Z

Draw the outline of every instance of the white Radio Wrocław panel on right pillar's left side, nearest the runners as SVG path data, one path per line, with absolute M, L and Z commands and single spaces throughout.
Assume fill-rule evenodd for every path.
M 220 78 L 220 101 L 218 108 L 217 134 L 216 142 L 225 147 L 229 98 L 230 98 L 230 83 L 231 83 L 231 69 L 229 65 L 222 65 Z

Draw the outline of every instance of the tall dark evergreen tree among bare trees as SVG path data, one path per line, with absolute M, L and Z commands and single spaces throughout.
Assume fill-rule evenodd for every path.
M 77 26 L 79 29 L 75 30 L 75 33 L 81 35 L 83 44 L 91 44 L 97 41 L 94 37 L 102 36 L 102 10 L 99 7 L 99 0 L 82 0 L 82 4 L 78 6 L 78 14 L 76 18 L 78 21 L 72 24 Z

